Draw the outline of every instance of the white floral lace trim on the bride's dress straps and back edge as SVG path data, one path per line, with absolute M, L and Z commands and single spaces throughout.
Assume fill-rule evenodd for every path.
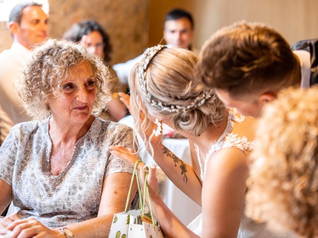
M 211 145 L 210 150 L 206 154 L 204 168 L 201 162 L 199 147 L 195 144 L 195 151 L 200 165 L 200 177 L 202 181 L 205 176 L 207 162 L 214 152 L 232 147 L 237 147 L 242 151 L 251 151 L 253 149 L 253 141 L 249 141 L 245 136 L 240 137 L 238 134 L 232 133 L 234 122 L 241 123 L 245 120 L 245 117 L 240 115 L 235 109 L 229 109 L 228 112 L 227 126 L 223 134 L 219 137 L 217 142 Z

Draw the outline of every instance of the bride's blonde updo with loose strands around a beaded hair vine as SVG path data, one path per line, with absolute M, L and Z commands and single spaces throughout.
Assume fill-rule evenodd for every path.
M 146 70 L 147 91 L 151 97 L 162 104 L 188 106 L 199 95 L 210 92 L 196 77 L 195 65 L 198 56 L 185 49 L 165 48 L 159 51 L 149 62 Z M 141 63 L 141 62 L 140 62 Z M 208 125 L 216 123 L 224 117 L 224 105 L 212 93 L 212 97 L 199 107 L 181 112 L 167 112 L 152 105 L 143 92 L 139 77 L 138 67 L 133 68 L 129 80 L 131 92 L 131 109 L 134 115 L 140 115 L 141 108 L 152 118 L 163 116 L 169 119 L 177 130 L 191 131 L 196 136 L 200 135 Z M 136 121 L 135 127 L 145 131 L 150 126 L 150 120 L 145 117 L 143 121 Z M 142 130 L 140 130 L 142 129 Z M 147 143 L 146 137 L 141 135 Z

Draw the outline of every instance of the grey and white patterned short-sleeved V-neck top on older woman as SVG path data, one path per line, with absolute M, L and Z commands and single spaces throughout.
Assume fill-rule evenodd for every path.
M 104 178 L 133 172 L 108 149 L 110 145 L 133 148 L 133 131 L 96 117 L 76 142 L 64 171 L 53 176 L 48 121 L 23 122 L 11 129 L 0 147 L 0 179 L 11 185 L 18 215 L 57 228 L 96 217 Z

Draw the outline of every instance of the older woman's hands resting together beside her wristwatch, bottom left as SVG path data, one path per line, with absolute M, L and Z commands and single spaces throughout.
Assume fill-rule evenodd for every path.
M 20 219 L 16 214 L 3 219 L 4 228 L 12 231 L 12 238 L 65 238 L 59 229 L 49 229 L 34 218 Z

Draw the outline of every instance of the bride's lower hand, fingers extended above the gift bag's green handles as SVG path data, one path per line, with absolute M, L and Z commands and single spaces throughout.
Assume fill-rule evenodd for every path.
M 134 167 L 136 162 L 139 160 L 138 155 L 132 149 L 126 149 L 122 146 L 113 145 L 110 146 L 109 149 L 111 154 L 116 155 L 119 158 L 125 160 L 132 167 Z M 156 165 L 152 165 L 150 169 L 148 169 L 148 167 L 143 162 L 140 162 L 137 166 L 137 170 L 142 187 L 144 187 L 145 183 L 145 173 L 146 171 L 149 171 L 149 175 L 147 178 L 149 195 L 152 199 L 159 196 L 159 185 L 156 177 Z

